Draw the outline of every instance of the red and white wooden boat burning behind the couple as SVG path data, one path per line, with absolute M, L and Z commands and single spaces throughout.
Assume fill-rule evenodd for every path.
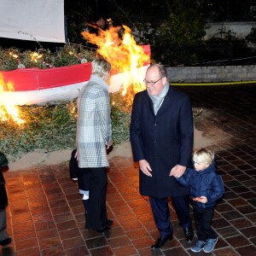
M 145 54 L 150 55 L 150 46 L 144 45 Z M 149 58 L 150 60 L 150 58 Z M 109 78 L 109 92 L 119 90 L 120 86 L 129 84 L 131 79 L 141 82 L 149 61 L 143 67 L 125 73 L 112 74 Z M 91 62 L 70 67 L 53 67 L 47 69 L 23 68 L 13 71 L 0 71 L 3 83 L 11 83 L 12 91 L 0 90 L 0 105 L 12 102 L 12 105 L 45 104 L 72 100 L 79 95 L 79 90 L 87 84 L 91 74 Z

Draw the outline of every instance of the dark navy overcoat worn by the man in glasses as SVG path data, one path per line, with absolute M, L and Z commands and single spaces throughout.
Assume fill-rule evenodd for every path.
M 191 163 L 194 125 L 189 97 L 170 86 L 155 115 L 147 90 L 137 93 L 130 132 L 134 160 L 147 160 L 152 168 L 153 177 L 139 173 L 140 193 L 155 198 L 189 195 L 189 188 L 169 176 L 173 166 Z

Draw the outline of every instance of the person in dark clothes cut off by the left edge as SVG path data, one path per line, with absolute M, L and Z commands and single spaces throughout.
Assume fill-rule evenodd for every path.
M 5 208 L 8 206 L 8 197 L 6 194 L 5 180 L 3 177 L 3 169 L 8 165 L 8 160 L 5 158 L 2 152 L 0 152 L 0 154 L 0 245 L 6 246 L 12 241 L 6 232 Z

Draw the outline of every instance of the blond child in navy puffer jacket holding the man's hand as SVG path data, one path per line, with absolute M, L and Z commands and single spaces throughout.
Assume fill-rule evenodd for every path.
M 216 172 L 214 153 L 201 148 L 193 154 L 194 168 L 189 168 L 177 182 L 190 187 L 190 198 L 193 200 L 193 212 L 198 241 L 191 251 L 198 253 L 212 252 L 218 241 L 217 234 L 212 230 L 212 217 L 218 199 L 224 194 L 222 177 Z

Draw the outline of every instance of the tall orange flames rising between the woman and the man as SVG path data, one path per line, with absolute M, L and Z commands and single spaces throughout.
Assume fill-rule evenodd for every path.
M 99 28 L 98 35 L 90 32 L 82 32 L 82 35 L 91 44 L 96 44 L 97 53 L 111 63 L 111 73 L 122 73 L 125 76 L 121 86 L 122 95 L 126 96 L 127 104 L 131 105 L 134 95 L 146 89 L 143 84 L 144 73 L 138 72 L 137 68 L 143 67 L 149 60 L 143 47 L 131 35 L 131 29 L 125 25 L 110 26 L 106 31 Z

